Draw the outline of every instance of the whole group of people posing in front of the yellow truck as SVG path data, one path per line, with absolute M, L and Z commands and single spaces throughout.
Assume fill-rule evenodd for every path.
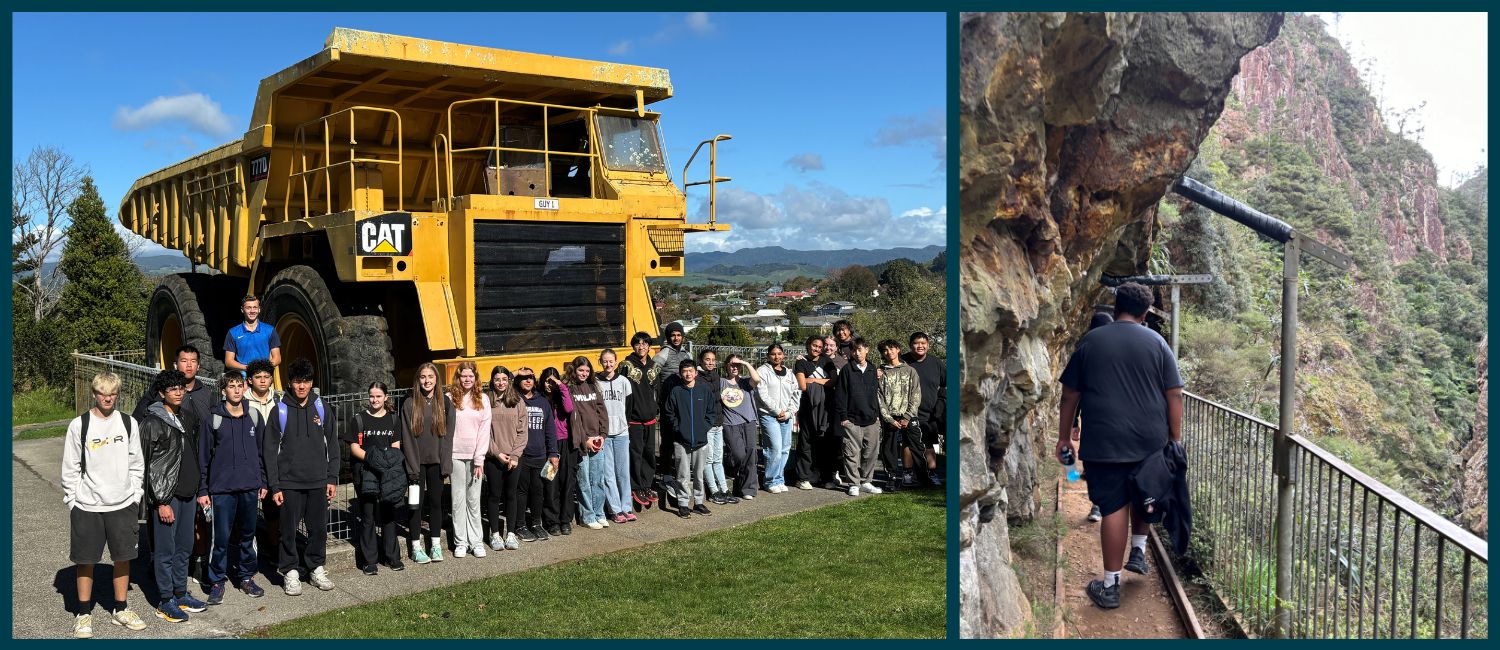
M 254 323 L 258 309 L 243 306 L 258 303 L 242 303 L 250 339 L 272 341 L 273 330 Z M 300 594 L 304 575 L 332 590 L 327 521 L 345 450 L 357 494 L 357 563 L 368 575 L 380 564 L 405 569 L 396 536 L 404 513 L 411 560 L 444 560 L 444 494 L 453 557 L 484 557 L 486 549 L 572 534 L 574 522 L 598 530 L 638 521 L 636 512 L 651 507 L 705 516 L 710 501 L 784 492 L 794 429 L 790 471 L 801 489 L 816 482 L 850 495 L 879 494 L 878 456 L 886 489 L 938 482 L 932 470 L 945 372 L 927 354 L 924 333 L 912 335 L 904 357 L 900 344 L 882 341 L 879 368 L 843 321 L 834 336 L 808 339 L 807 354 L 790 368 L 780 345 L 766 350 L 759 368 L 736 354 L 720 366 L 712 350 L 693 359 L 676 323 L 651 356 L 654 344 L 638 332 L 624 359 L 603 350 L 562 371 L 496 366 L 484 383 L 472 362 L 459 363 L 448 386 L 435 365 L 423 363 L 399 408 L 390 389 L 374 383 L 368 408 L 344 423 L 342 435 L 338 416 L 314 390 L 309 360 L 286 366 L 290 390 L 272 389 L 279 345 L 260 345 L 249 357 L 226 354 L 219 390 L 196 380 L 200 353 L 183 345 L 134 417 L 116 408 L 118 377 L 96 375 L 94 407 L 69 425 L 62 470 L 82 606 L 75 635 L 93 635 L 93 564 L 105 546 L 116 563 L 110 620 L 144 627 L 124 606 L 138 509 L 150 525 L 162 620 L 186 621 L 222 602 L 231 585 L 264 596 L 254 579 L 260 512 L 266 539 L 278 545 L 284 591 Z M 237 345 L 255 348 L 254 341 Z M 658 494 L 676 507 L 658 504 Z M 207 525 L 212 552 L 200 530 Z M 298 525 L 308 531 L 300 554 Z M 208 555 L 207 600 L 188 591 L 195 545 Z

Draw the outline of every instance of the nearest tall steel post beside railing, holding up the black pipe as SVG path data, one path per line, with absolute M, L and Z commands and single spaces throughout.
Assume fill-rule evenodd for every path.
M 1298 374 L 1298 254 L 1299 237 L 1287 240 L 1281 266 L 1281 426 L 1272 467 L 1276 473 L 1276 618 L 1274 636 L 1287 638 L 1292 630 L 1292 494 L 1296 485 L 1292 473 L 1292 441 L 1296 422 Z

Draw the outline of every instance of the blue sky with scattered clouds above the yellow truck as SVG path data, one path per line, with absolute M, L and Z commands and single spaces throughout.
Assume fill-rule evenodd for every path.
M 690 251 L 946 240 L 942 14 L 16 14 L 12 158 L 54 146 L 111 218 L 135 179 L 243 135 L 261 78 L 333 27 L 666 68 L 668 161 L 720 147 L 729 234 Z M 66 44 L 58 47 L 58 44 Z M 45 65 L 33 65 L 45 53 Z M 694 164 L 696 167 L 696 164 Z M 706 176 L 705 170 L 694 170 Z M 706 189 L 688 200 L 706 219 Z M 147 252 L 148 254 L 148 252 Z

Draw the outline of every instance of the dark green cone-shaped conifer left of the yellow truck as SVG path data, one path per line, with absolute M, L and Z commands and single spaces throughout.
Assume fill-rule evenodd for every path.
M 58 270 L 68 276 L 57 315 L 75 350 L 134 350 L 146 344 L 141 272 L 105 215 L 92 177 L 68 206 L 72 224 Z

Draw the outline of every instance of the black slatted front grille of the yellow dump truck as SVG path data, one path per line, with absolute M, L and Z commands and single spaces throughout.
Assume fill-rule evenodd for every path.
M 474 222 L 478 354 L 620 345 L 626 339 L 626 228 Z

